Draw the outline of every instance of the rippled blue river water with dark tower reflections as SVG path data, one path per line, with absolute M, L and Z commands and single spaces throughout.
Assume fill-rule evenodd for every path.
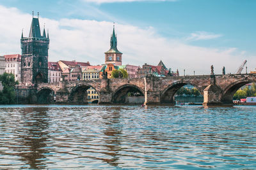
M 256 107 L 0 106 L 0 169 L 256 169 Z

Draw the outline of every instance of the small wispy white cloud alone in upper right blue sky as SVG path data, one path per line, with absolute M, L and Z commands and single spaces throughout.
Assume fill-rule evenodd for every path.
M 214 34 L 212 32 L 198 31 L 198 32 L 191 33 L 190 36 L 187 38 L 187 40 L 190 40 L 190 41 L 207 40 L 207 39 L 219 38 L 221 36 L 222 36 L 221 34 Z

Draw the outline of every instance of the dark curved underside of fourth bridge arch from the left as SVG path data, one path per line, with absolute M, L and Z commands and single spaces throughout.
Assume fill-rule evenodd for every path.
M 163 104 L 175 104 L 175 93 L 184 85 L 192 85 L 200 91 L 200 94 L 203 94 L 204 87 L 198 87 L 195 83 L 190 81 L 175 81 L 172 84 L 168 85 L 162 92 L 160 96 L 160 102 Z

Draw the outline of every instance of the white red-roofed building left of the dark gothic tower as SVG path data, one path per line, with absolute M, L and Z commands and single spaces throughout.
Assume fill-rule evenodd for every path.
M 12 73 L 15 80 L 20 81 L 20 54 L 4 55 L 5 58 L 5 72 Z

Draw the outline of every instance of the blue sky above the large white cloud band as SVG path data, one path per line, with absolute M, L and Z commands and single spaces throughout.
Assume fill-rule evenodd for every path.
M 237 63 L 233 63 L 236 66 L 232 66 L 232 69 L 230 66 L 230 72 L 234 71 L 244 59 L 247 59 L 248 62 L 254 62 L 256 53 L 256 1 L 253 0 L 0 0 L 0 5 L 8 9 L 15 7 L 24 14 L 39 11 L 40 17 L 57 21 L 66 18 L 68 20 L 116 22 L 117 34 L 118 31 L 120 32 L 118 24 L 131 25 L 146 31 L 153 29 L 154 38 L 179 41 L 184 46 L 222 50 L 221 52 L 235 49 L 228 53 L 237 59 Z M 29 24 L 29 22 L 26 23 L 26 25 Z M 108 37 L 111 33 L 110 30 L 105 32 Z M 122 40 L 118 39 L 118 41 Z M 136 44 L 135 39 L 134 44 Z M 129 50 L 125 49 L 124 45 L 120 48 L 125 51 Z M 108 48 L 108 45 L 105 48 Z M 191 57 L 196 59 L 195 55 Z M 232 59 L 232 57 L 230 58 Z M 228 57 L 228 59 L 230 58 Z M 128 62 L 129 60 L 125 61 Z M 142 61 L 131 61 L 132 64 L 137 62 Z M 177 63 L 181 64 L 182 61 Z M 218 60 L 215 63 L 218 63 Z M 138 63 L 137 65 L 141 66 L 142 64 Z M 173 67 L 172 64 L 170 67 Z M 256 66 L 252 65 L 251 67 L 254 69 Z M 204 70 L 206 71 L 206 67 L 199 72 L 204 73 Z

